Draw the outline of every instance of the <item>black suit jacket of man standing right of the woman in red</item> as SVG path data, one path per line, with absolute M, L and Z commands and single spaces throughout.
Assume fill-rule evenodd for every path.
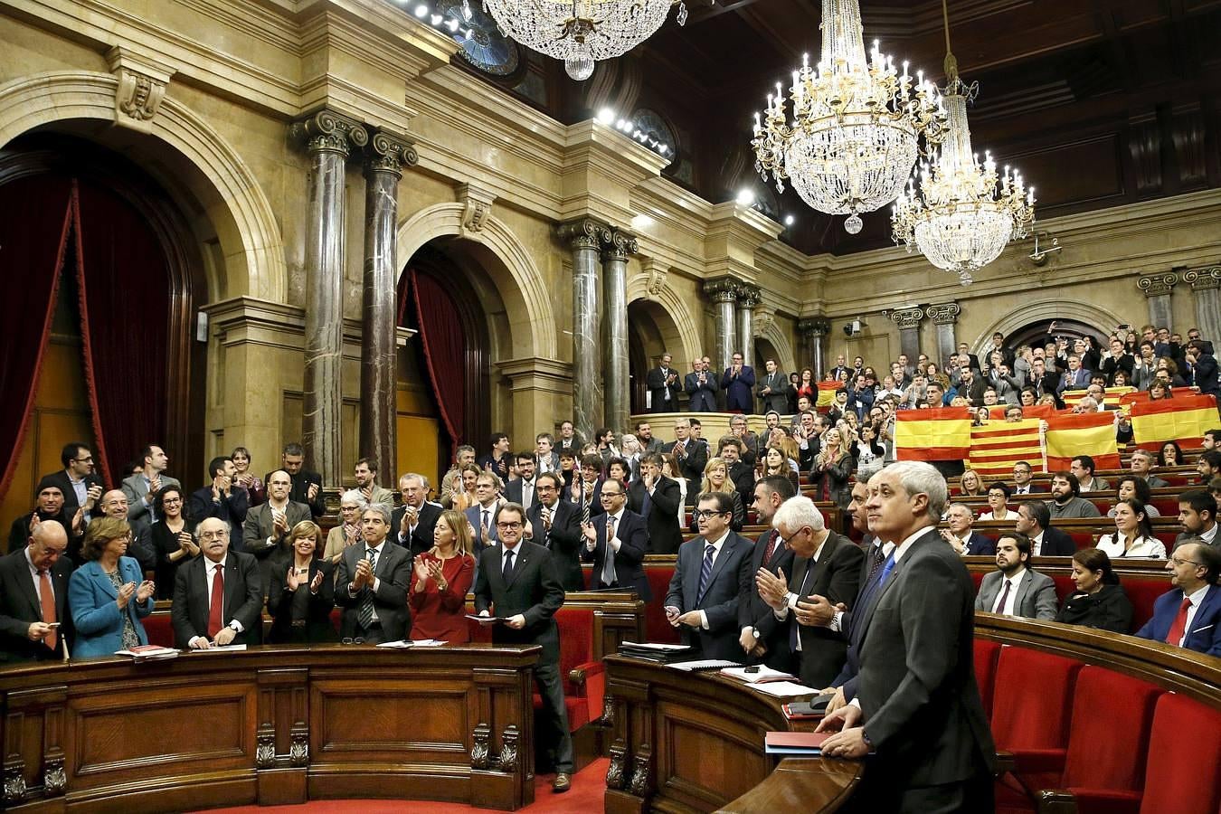
M 507 625 L 492 627 L 497 644 L 540 644 L 543 661 L 559 664 L 559 630 L 554 615 L 564 604 L 564 588 L 556 575 L 551 554 L 541 546 L 526 541 L 516 544 L 513 572 L 504 580 L 504 547 L 501 543 L 485 548 L 479 555 L 479 577 L 475 580 L 475 613 L 492 611 L 499 618 L 525 616 L 521 630 Z

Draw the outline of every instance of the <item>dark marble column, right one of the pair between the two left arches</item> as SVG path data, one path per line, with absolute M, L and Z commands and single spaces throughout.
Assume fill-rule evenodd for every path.
M 377 459 L 380 486 L 393 488 L 398 466 L 398 182 L 419 156 L 389 133 L 372 137 L 365 164 L 365 273 L 360 331 L 360 455 Z

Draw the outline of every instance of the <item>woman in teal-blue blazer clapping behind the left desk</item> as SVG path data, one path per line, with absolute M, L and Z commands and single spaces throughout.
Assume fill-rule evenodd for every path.
M 98 517 L 84 533 L 83 556 L 89 560 L 72 572 L 68 608 L 77 627 L 72 657 L 114 655 L 148 644 L 140 619 L 153 613 L 156 586 L 144 580 L 139 563 L 127 553 L 131 526 L 115 517 Z

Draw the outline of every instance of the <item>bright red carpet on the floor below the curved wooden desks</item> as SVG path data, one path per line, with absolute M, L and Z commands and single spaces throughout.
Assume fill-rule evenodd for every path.
M 607 758 L 595 760 L 573 775 L 573 788 L 564 794 L 551 791 L 552 775 L 535 776 L 535 802 L 520 812 L 527 814 L 569 814 L 581 812 L 593 814 L 602 810 L 602 792 L 606 791 Z M 394 799 L 322 799 L 302 805 L 241 805 L 237 808 L 212 808 L 209 814 L 459 814 L 459 812 L 487 812 L 454 803 L 427 803 Z

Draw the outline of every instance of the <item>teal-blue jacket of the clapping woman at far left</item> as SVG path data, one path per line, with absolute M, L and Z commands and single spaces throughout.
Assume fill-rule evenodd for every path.
M 123 582 L 137 586 L 144 580 L 140 564 L 131 556 L 118 558 L 118 572 Z M 110 581 L 101 564 L 96 560 L 85 563 L 72 572 L 68 581 L 68 607 L 72 609 L 72 625 L 76 627 L 76 644 L 72 648 L 73 659 L 114 655 L 123 649 L 123 619 L 129 619 L 140 644 L 148 644 L 140 619 L 153 613 L 155 599 L 136 602 L 136 594 L 128 599 L 123 610 L 118 609 L 118 592 Z

